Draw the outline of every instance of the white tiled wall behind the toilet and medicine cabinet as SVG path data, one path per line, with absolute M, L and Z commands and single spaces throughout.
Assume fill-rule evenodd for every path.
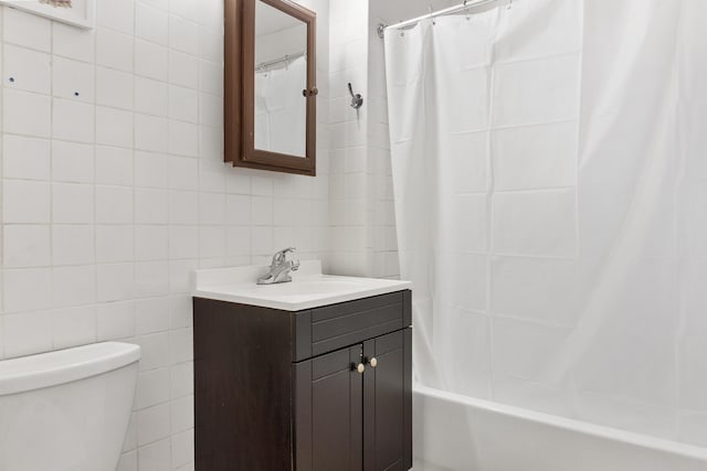
M 119 470 L 193 469 L 191 270 L 328 260 L 329 9 L 303 3 L 317 178 L 222 163 L 221 1 L 98 0 L 93 31 L 0 8 L 0 360 L 140 344 Z

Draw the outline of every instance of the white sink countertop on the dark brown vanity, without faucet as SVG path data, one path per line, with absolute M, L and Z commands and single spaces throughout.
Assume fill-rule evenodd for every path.
M 318 260 L 302 261 L 291 282 L 256 285 L 266 266 L 197 270 L 192 296 L 284 311 L 302 311 L 337 302 L 410 289 L 410 281 L 339 277 L 321 274 Z

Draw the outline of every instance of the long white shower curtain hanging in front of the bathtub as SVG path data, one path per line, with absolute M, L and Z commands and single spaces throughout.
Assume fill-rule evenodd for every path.
M 707 446 L 707 1 L 386 33 L 419 382 Z

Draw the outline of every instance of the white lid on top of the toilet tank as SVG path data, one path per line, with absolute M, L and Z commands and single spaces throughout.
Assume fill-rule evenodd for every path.
M 138 345 L 102 342 L 0 361 L 0 396 L 96 376 L 139 360 Z

